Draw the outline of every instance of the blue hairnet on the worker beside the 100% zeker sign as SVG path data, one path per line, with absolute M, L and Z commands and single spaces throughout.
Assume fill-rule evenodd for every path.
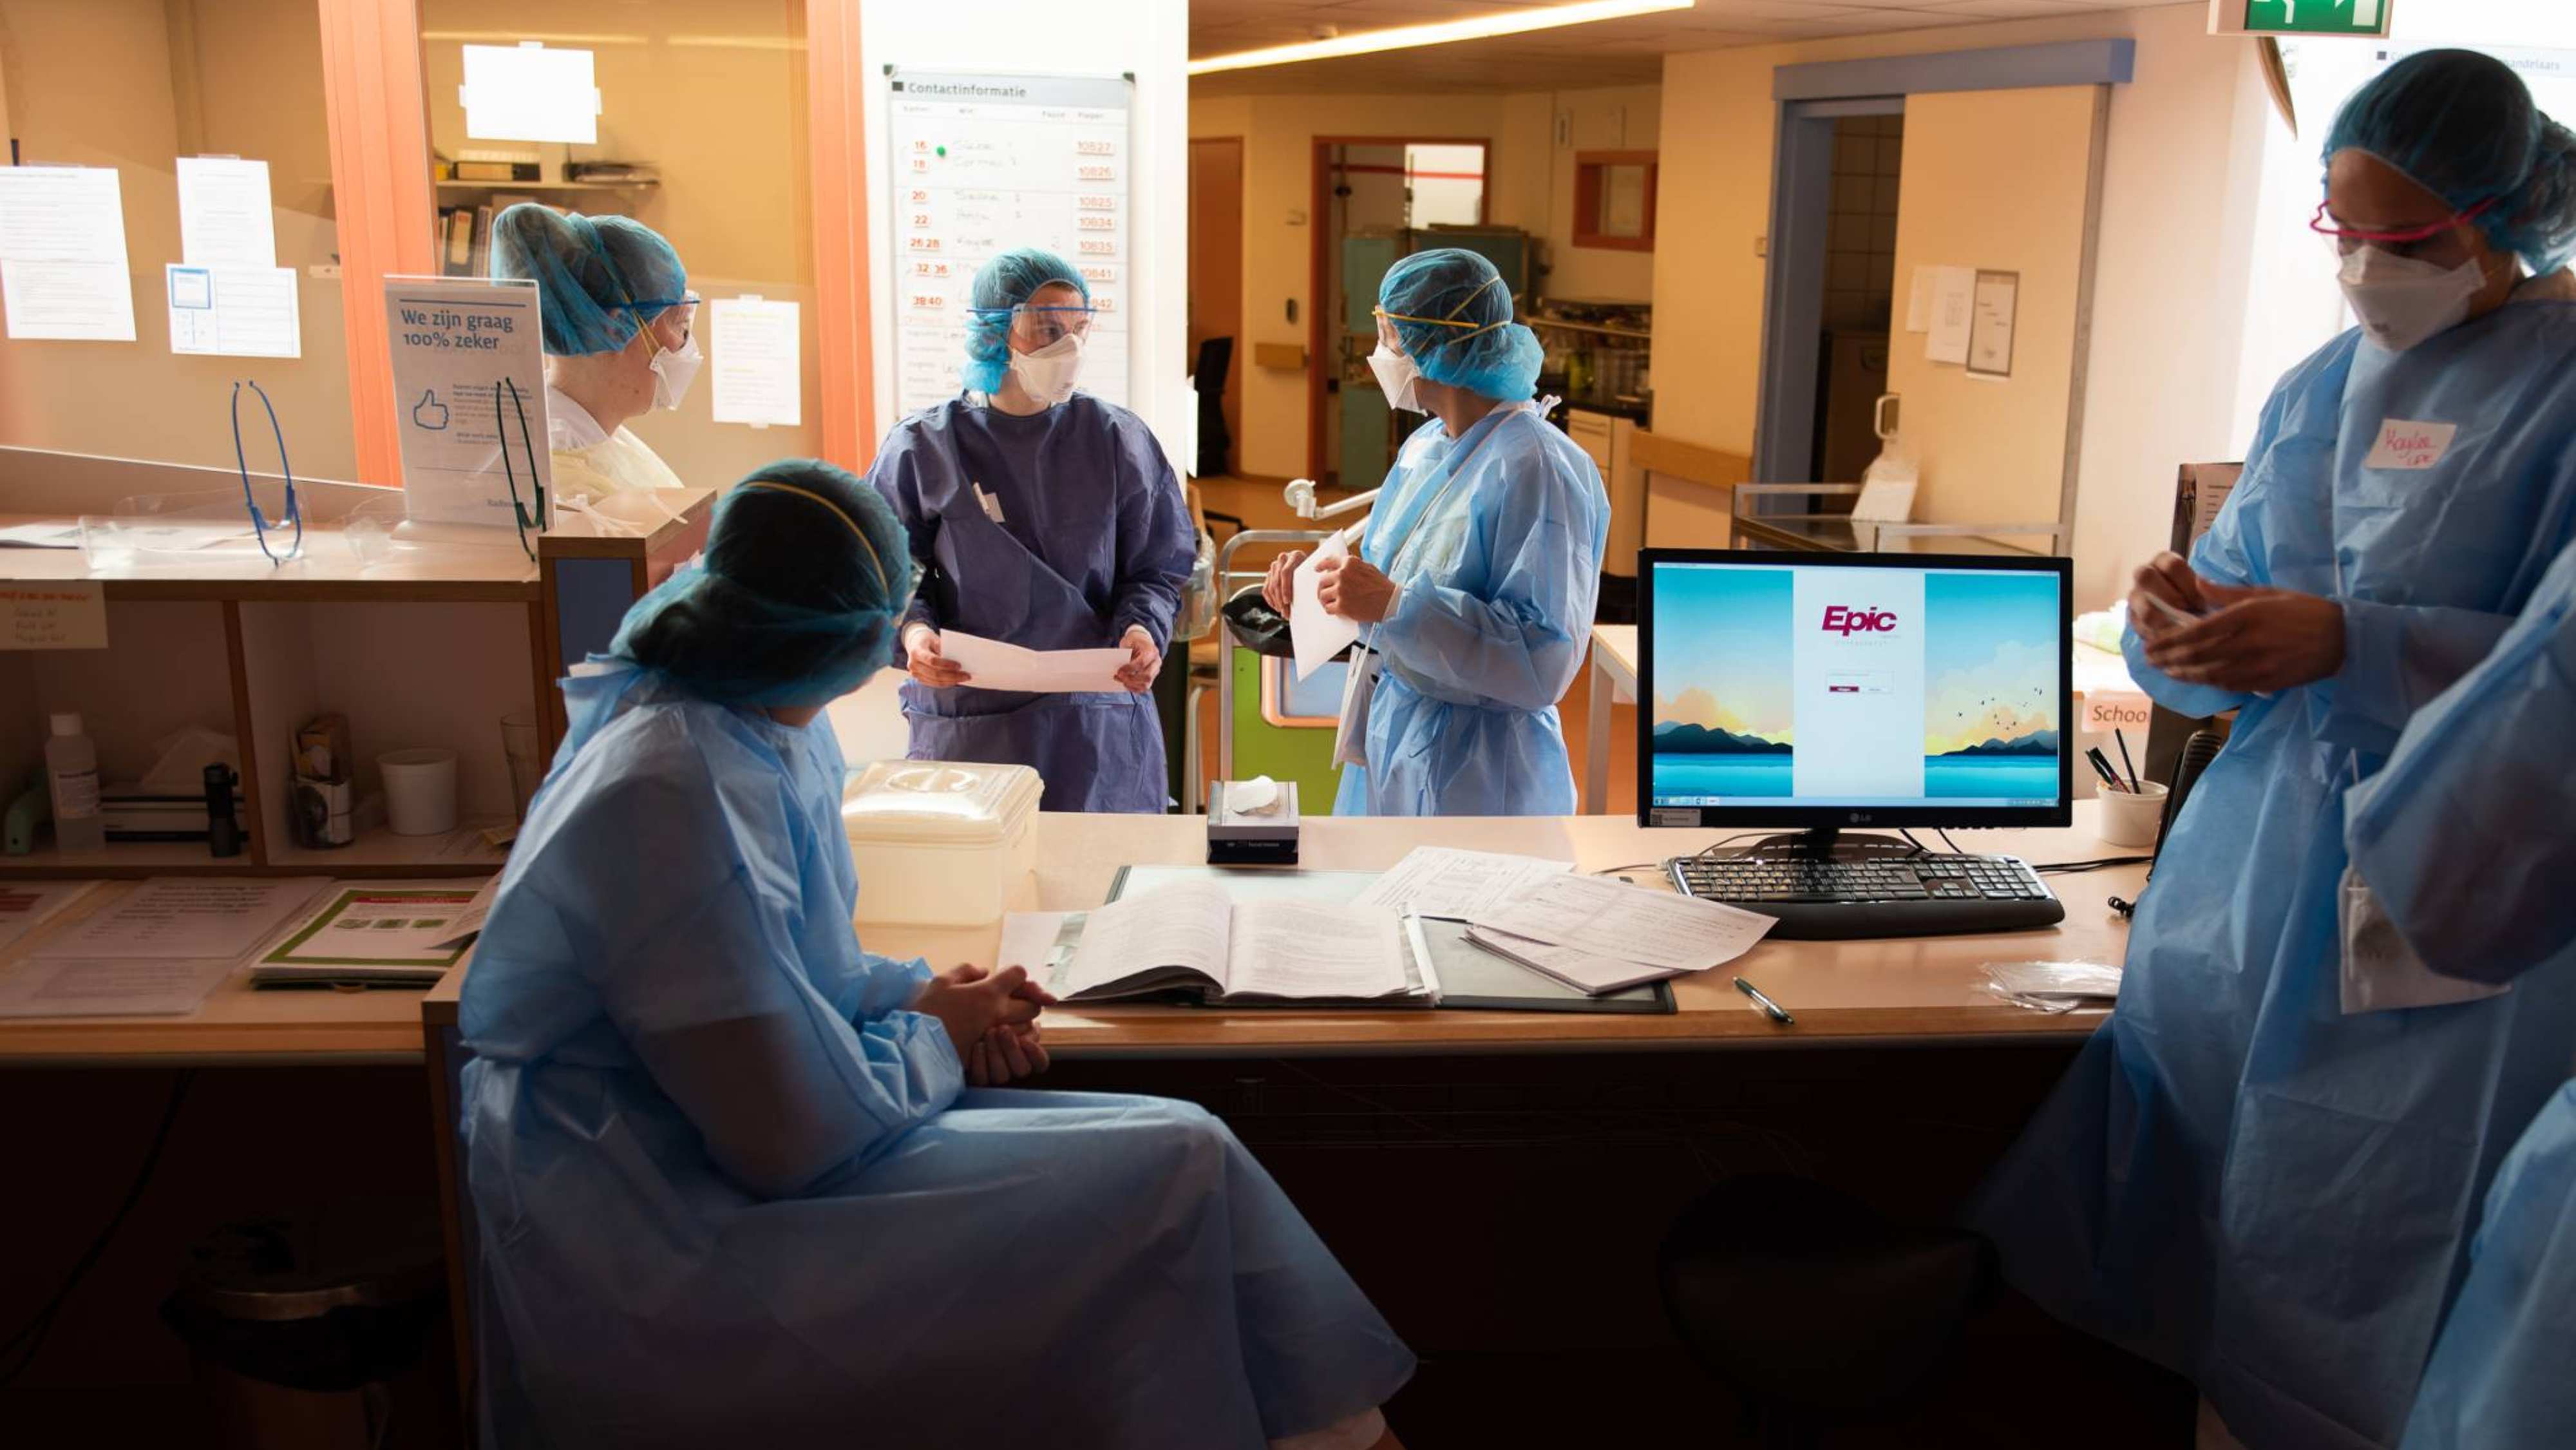
M 688 296 L 680 252 L 652 227 L 533 201 L 492 221 L 492 276 L 536 283 L 546 350 L 556 358 L 616 353 Z

